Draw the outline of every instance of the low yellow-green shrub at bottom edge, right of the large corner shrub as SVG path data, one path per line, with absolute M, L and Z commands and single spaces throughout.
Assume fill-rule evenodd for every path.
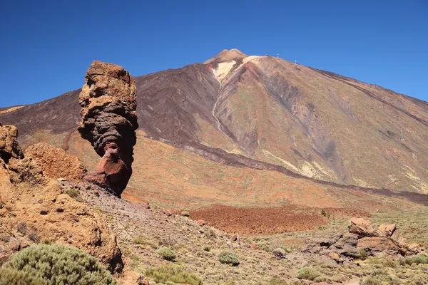
M 146 275 L 153 278 L 156 283 L 174 282 L 176 284 L 203 285 L 202 279 L 191 274 L 182 266 L 166 264 L 146 270 Z

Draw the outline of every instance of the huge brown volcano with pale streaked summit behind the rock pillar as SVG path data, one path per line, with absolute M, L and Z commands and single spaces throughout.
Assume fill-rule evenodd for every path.
M 424 101 L 238 50 L 136 77 L 136 85 L 148 138 L 221 148 L 327 182 L 428 193 Z M 17 125 L 24 145 L 50 135 L 67 148 L 78 92 L 1 113 L 0 122 Z

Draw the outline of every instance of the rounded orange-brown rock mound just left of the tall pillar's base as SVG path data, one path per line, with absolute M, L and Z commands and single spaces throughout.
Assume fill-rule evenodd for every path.
M 78 157 L 44 142 L 27 147 L 25 156 L 36 160 L 47 177 L 81 182 L 86 175 L 86 168 Z

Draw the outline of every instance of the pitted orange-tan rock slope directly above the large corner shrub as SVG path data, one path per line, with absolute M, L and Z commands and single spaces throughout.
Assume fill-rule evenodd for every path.
M 0 254 L 1 260 L 29 244 L 48 240 L 88 252 L 113 273 L 122 271 L 116 236 L 91 207 L 63 193 L 66 189 L 55 180 L 46 178 L 46 184 L 29 187 L 26 183 L 11 184 L 7 176 L 6 170 L 0 172 L 0 234 L 10 237 L 3 242 L 9 250 Z

